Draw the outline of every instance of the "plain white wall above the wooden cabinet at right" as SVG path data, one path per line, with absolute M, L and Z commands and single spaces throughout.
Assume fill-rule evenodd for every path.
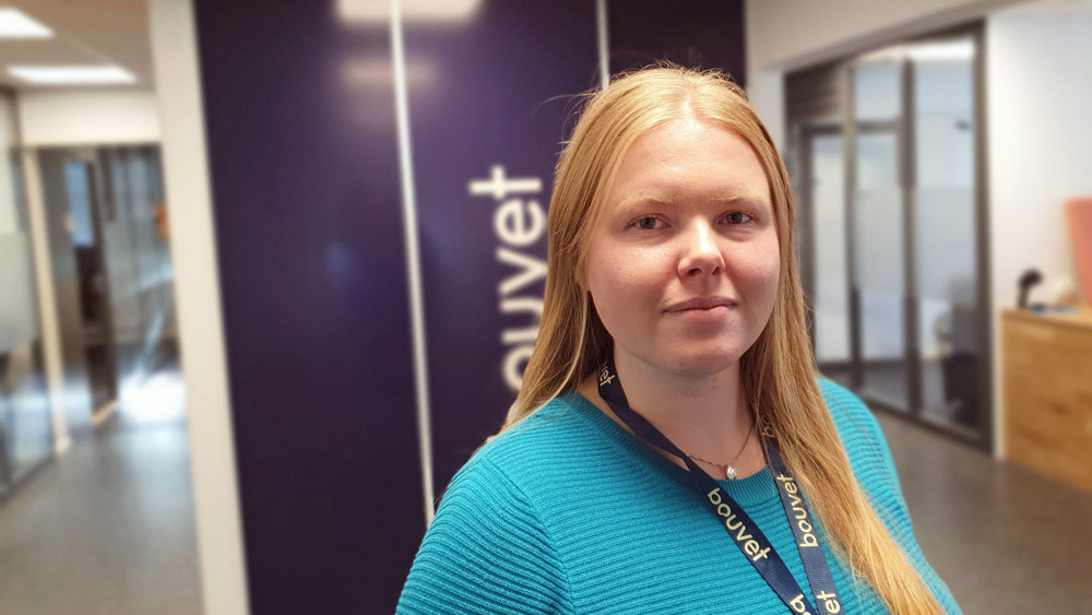
M 1046 277 L 1044 286 L 1058 277 L 1076 281 L 1063 203 L 1092 196 L 1092 2 L 1043 2 L 999 12 L 987 21 L 986 40 L 994 372 L 1000 406 L 998 312 L 1016 303 L 1017 279 L 1034 267 Z M 1004 450 L 1004 442 L 999 446 Z

